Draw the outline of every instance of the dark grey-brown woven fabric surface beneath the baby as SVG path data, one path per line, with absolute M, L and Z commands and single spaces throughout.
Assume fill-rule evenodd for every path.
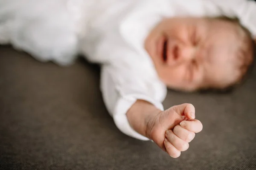
M 115 127 L 98 66 L 62 68 L 1 46 L 0 170 L 256 170 L 255 70 L 231 94 L 169 91 L 164 106 L 184 102 L 204 129 L 172 159 Z

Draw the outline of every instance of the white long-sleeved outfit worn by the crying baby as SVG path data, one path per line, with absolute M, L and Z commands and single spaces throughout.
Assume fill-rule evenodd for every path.
M 126 117 L 137 99 L 163 110 L 166 86 L 144 49 L 145 37 L 165 17 L 220 15 L 238 17 L 256 37 L 254 1 L 0 0 L 0 44 L 60 65 L 72 63 L 77 54 L 99 63 L 102 96 L 116 126 L 148 140 Z

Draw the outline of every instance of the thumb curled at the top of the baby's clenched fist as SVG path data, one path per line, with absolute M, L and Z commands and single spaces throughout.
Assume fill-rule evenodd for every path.
M 195 107 L 192 104 L 184 103 L 176 106 L 180 115 L 186 116 L 188 119 L 195 119 Z

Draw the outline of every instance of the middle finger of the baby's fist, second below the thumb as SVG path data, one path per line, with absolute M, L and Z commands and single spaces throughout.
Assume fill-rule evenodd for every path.
M 178 136 L 180 139 L 191 142 L 195 138 L 195 133 L 191 132 L 189 130 L 186 130 L 185 128 L 181 127 L 180 125 L 177 125 L 173 129 L 173 133 Z

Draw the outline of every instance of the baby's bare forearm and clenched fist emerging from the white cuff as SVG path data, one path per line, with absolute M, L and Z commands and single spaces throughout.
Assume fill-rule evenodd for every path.
M 160 111 L 148 102 L 137 100 L 126 115 L 135 131 L 152 139 L 173 158 L 187 150 L 195 133 L 203 128 L 201 122 L 195 119 L 195 108 L 191 104 Z

